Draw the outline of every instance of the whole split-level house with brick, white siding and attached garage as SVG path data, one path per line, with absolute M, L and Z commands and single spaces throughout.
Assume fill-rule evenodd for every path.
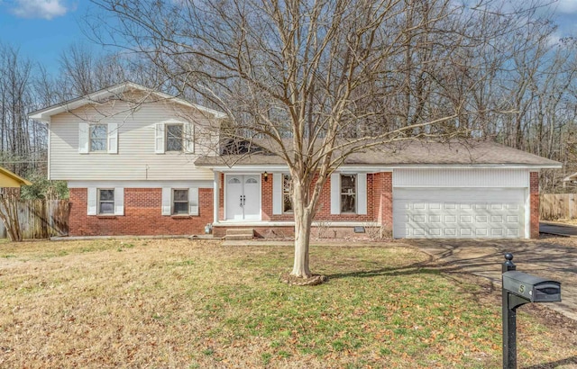
M 31 118 L 49 127 L 49 178 L 69 183 L 71 236 L 192 235 L 207 223 L 216 236 L 294 232 L 287 166 L 218 155 L 222 112 L 124 83 Z M 556 167 L 489 141 L 365 150 L 331 175 L 313 226 L 327 237 L 536 238 L 538 172 Z

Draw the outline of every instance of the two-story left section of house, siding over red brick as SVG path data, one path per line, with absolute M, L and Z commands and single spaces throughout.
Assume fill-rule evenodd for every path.
M 70 235 L 196 234 L 213 221 L 221 112 L 124 83 L 31 114 L 49 129 L 48 176 L 68 181 Z

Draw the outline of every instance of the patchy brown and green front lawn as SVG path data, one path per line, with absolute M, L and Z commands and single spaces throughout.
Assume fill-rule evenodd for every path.
M 425 260 L 312 247 L 329 282 L 295 287 L 279 283 L 292 247 L 3 243 L 0 367 L 499 367 L 499 299 Z M 517 325 L 519 367 L 577 356 L 531 316 Z

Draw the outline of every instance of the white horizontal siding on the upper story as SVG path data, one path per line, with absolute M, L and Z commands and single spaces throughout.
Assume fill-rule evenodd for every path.
M 140 109 L 134 111 L 127 103 L 115 102 L 116 114 L 111 114 L 109 118 L 97 117 L 89 112 L 89 109 L 76 110 L 51 117 L 49 154 L 51 179 L 78 182 L 213 180 L 210 169 L 196 167 L 194 162 L 201 155 L 211 154 L 210 149 L 215 148 L 218 142 L 215 134 L 200 134 L 199 131 L 202 130 L 195 128 L 197 136 L 195 154 L 155 153 L 158 146 L 155 145 L 156 124 L 178 120 L 177 114 L 182 115 L 174 107 L 167 107 L 164 103 L 143 103 Z M 117 153 L 114 155 L 89 153 L 88 124 L 79 124 L 78 121 L 82 119 L 116 125 L 115 129 L 109 125 L 109 132 L 116 132 L 117 135 L 116 139 L 108 138 L 108 146 L 111 150 L 115 146 Z M 199 124 L 203 124 L 205 120 L 202 116 L 194 115 L 191 119 Z M 163 139 L 158 141 L 163 143 Z

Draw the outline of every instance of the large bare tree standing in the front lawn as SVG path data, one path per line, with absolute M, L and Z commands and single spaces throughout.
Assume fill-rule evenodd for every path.
M 490 1 L 93 3 L 106 12 L 96 37 L 147 58 L 180 92 L 227 112 L 227 134 L 261 139 L 284 159 L 296 223 L 291 275 L 305 278 L 329 175 L 362 149 L 468 130 L 463 105 L 475 85 L 450 96 L 439 86 L 519 16 Z

